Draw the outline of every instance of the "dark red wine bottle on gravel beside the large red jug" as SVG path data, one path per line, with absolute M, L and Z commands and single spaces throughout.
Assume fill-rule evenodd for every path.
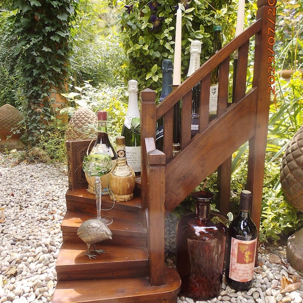
M 227 284 L 236 290 L 247 290 L 254 277 L 257 228 L 250 219 L 251 192 L 242 190 L 239 215 L 227 232 L 227 261 L 225 277 Z

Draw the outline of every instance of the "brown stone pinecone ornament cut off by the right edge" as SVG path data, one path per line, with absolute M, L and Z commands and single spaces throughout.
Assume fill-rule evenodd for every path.
M 286 147 L 280 180 L 286 199 L 303 212 L 303 125 Z

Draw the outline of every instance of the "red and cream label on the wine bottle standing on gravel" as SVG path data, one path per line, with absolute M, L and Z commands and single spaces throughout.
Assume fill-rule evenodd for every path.
M 257 238 L 251 241 L 231 238 L 229 277 L 237 282 L 254 278 Z

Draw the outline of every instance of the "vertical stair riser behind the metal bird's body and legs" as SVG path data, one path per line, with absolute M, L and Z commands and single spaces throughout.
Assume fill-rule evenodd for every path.
M 77 243 L 82 242 L 82 240 L 77 236 L 75 232 L 63 231 L 63 241 L 67 243 Z M 113 233 L 113 239 L 107 242 L 108 245 L 114 246 L 134 246 L 134 247 L 146 247 L 146 238 L 131 237 L 131 236 L 121 236 L 115 235 Z

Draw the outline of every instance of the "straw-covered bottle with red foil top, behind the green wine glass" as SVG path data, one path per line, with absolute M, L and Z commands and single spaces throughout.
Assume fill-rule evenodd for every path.
M 97 112 L 98 117 L 98 128 L 97 128 L 97 139 L 90 151 L 90 155 L 95 154 L 107 154 L 110 155 L 112 158 L 112 161 L 114 162 L 117 159 L 117 154 L 115 151 L 115 148 L 113 147 L 109 136 L 108 136 L 108 130 L 107 130 L 107 112 L 106 111 L 98 111 Z M 94 183 L 95 178 L 94 177 L 88 177 L 86 175 L 86 179 L 88 181 L 88 191 L 90 193 L 95 193 L 94 189 Z M 101 182 L 102 182 L 102 194 L 109 194 L 108 193 L 108 180 L 109 174 L 105 174 L 101 176 Z

